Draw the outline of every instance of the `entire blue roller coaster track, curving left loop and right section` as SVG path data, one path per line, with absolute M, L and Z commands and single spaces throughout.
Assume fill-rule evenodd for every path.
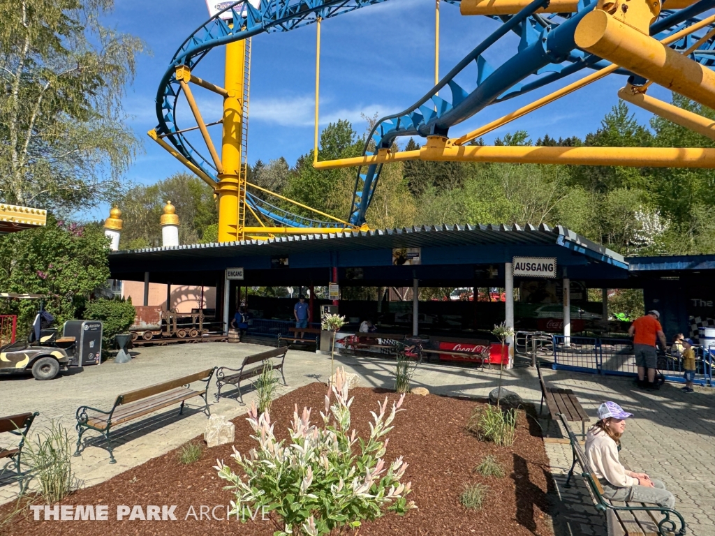
M 176 108 L 181 86 L 175 76 L 176 67 L 186 65 L 193 69 L 216 46 L 248 39 L 263 32 L 290 31 L 312 24 L 317 18 L 330 19 L 383 1 L 386 0 L 261 0 L 257 7 L 247 0 L 235 2 L 199 26 L 174 54 L 157 90 L 157 134 L 218 182 L 217 169 L 212 161 L 192 147 L 177 124 Z M 459 4 L 458 0 L 447 1 Z M 501 20 L 501 26 L 470 51 L 413 106 L 377 121 L 365 143 L 363 154 L 389 149 L 398 137 L 446 136 L 450 127 L 465 121 L 490 104 L 526 94 L 581 69 L 599 70 L 609 65 L 607 61 L 578 50 L 573 39 L 578 22 L 596 6 L 595 0 L 580 0 L 578 10 L 571 14 L 536 14 L 538 9 L 546 5 L 548 0 L 534 0 L 516 15 L 491 17 Z M 659 19 L 651 25 L 651 35 L 663 39 L 698 22 L 700 14 L 714 7 L 715 0 L 700 0 L 679 11 L 664 9 Z M 221 18 L 228 12 L 233 20 L 231 26 Z M 706 31 L 709 31 L 709 26 L 671 46 L 676 50 L 684 50 Z M 516 54 L 499 66 L 489 64 L 483 53 L 509 32 L 520 37 Z M 691 54 L 691 58 L 710 68 L 715 66 L 715 39 L 701 44 Z M 467 91 L 455 78 L 463 75 L 468 68 L 474 69 L 473 65 L 476 68 L 476 84 L 474 89 Z M 630 74 L 622 69 L 616 73 Z M 450 96 L 438 96 L 438 92 L 447 86 Z M 365 214 L 378 186 L 381 170 L 382 164 L 370 165 L 365 172 L 362 168 L 358 170 L 348 219 L 350 224 L 360 226 L 365 223 Z M 246 202 L 256 212 L 287 227 L 342 227 L 337 222 L 310 219 L 275 207 L 251 192 L 247 192 Z

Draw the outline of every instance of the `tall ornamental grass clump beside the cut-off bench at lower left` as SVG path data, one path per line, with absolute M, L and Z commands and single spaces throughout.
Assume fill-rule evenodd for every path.
M 77 484 L 71 464 L 73 450 L 69 430 L 54 421 L 25 442 L 22 460 L 29 465 L 38 493 L 48 505 L 64 499 Z

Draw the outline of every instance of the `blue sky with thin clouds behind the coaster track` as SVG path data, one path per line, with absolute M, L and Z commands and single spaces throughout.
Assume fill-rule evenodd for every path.
M 169 60 L 182 41 L 207 18 L 204 0 L 119 0 L 106 17 L 107 25 L 141 37 L 151 50 L 151 54 L 139 57 L 136 79 L 127 88 L 124 99 L 127 112 L 132 114 L 129 122 L 144 139 L 144 153 L 127 173 L 132 182 L 152 184 L 183 169 L 146 132 L 157 124 L 154 96 Z M 440 19 L 440 74 L 445 74 L 498 26 L 485 17 L 460 16 L 458 6 L 445 3 L 440 7 Z M 433 85 L 432 0 L 390 0 L 327 19 L 322 23 L 321 39 L 321 128 L 328 121 L 349 119 L 355 130 L 362 133 L 366 123 L 360 118 L 361 113 L 381 116 L 400 111 Z M 289 164 L 295 164 L 300 154 L 312 148 L 315 25 L 286 33 L 261 34 L 252 43 L 249 161 L 268 162 L 282 156 Z M 516 36 L 508 36 L 485 56 L 498 64 L 516 51 L 516 45 Z M 224 51 L 215 49 L 202 61 L 196 74 L 222 84 L 223 67 Z M 583 74 L 577 73 L 567 82 Z M 493 142 L 495 137 L 517 129 L 528 131 L 535 141 L 546 133 L 556 138 L 583 137 L 598 128 L 603 115 L 618 100 L 616 91 L 624 84 L 622 76 L 611 75 L 494 131 L 485 140 Z M 527 96 L 488 106 L 455 126 L 450 134 L 463 134 L 556 87 L 546 86 Z M 652 92 L 670 99 L 663 90 Z M 200 88 L 195 94 L 204 120 L 219 119 L 220 97 Z M 644 111 L 638 111 L 637 116 L 641 121 L 649 119 Z M 188 107 L 181 106 L 179 125 L 186 128 L 193 124 Z M 212 131 L 218 136 L 220 126 L 212 127 Z M 96 217 L 105 217 L 106 208 L 93 212 Z

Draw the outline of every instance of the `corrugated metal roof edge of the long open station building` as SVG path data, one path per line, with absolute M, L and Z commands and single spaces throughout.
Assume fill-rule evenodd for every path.
M 122 259 L 181 259 L 187 257 L 234 257 L 236 255 L 334 252 L 393 247 L 460 247 L 465 245 L 525 246 L 560 245 L 588 257 L 627 268 L 623 256 L 591 242 L 566 227 L 527 225 L 430 225 L 401 229 L 375 229 L 335 234 L 287 235 L 268 240 L 244 240 L 223 244 L 186 244 L 112 252 Z

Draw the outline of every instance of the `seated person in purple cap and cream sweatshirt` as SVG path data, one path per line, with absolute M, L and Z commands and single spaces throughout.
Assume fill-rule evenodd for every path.
M 626 419 L 632 413 L 623 411 L 616 402 L 603 402 L 598 407 L 598 422 L 586 435 L 586 457 L 603 487 L 603 497 L 621 502 L 647 502 L 672 508 L 675 497 L 660 480 L 642 472 L 627 470 L 618 460 L 621 435 Z

